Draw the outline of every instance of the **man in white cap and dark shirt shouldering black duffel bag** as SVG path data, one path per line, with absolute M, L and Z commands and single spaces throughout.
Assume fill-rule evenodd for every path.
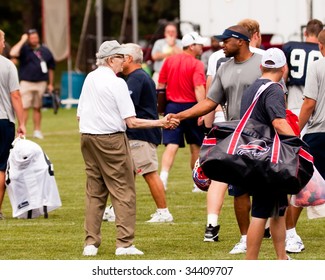
M 283 51 L 278 48 L 271 48 L 265 52 L 261 63 L 262 76 L 244 91 L 240 116 L 244 115 L 258 89 L 267 82 L 274 82 L 263 91 L 250 118 L 274 127 L 279 134 L 294 135 L 292 128 L 286 121 L 283 88 L 278 84 L 285 71 L 285 66 L 286 58 Z M 265 195 L 264 191 L 252 191 L 252 219 L 247 232 L 246 259 L 258 259 L 268 218 L 270 218 L 271 237 L 277 259 L 289 259 L 285 250 L 286 225 L 284 215 L 287 206 L 286 194 L 278 194 L 269 190 L 268 194 Z

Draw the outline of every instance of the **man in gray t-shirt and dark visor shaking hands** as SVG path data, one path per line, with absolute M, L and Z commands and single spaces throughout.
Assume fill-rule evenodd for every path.
M 239 119 L 240 103 L 244 90 L 261 76 L 262 56 L 253 54 L 249 49 L 250 35 L 240 26 L 231 26 L 217 39 L 223 41 L 226 57 L 233 57 L 225 62 L 214 77 L 207 98 L 171 117 L 184 120 L 203 116 L 214 110 L 219 104 L 226 105 L 227 119 Z M 233 187 L 233 186 L 232 186 Z M 231 254 L 246 252 L 246 235 L 249 227 L 250 197 L 233 187 L 234 208 L 241 232 L 240 242 L 230 251 Z

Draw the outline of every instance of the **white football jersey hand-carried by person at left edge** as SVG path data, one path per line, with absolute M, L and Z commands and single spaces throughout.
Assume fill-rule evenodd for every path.
M 6 186 L 13 217 L 47 217 L 47 212 L 62 206 L 53 165 L 38 144 L 25 138 L 13 142 Z

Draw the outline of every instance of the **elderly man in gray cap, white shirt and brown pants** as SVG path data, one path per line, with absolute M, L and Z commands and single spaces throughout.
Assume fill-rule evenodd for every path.
M 133 245 L 135 171 L 125 130 L 126 126 L 173 126 L 167 116 L 160 120 L 135 117 L 127 84 L 116 76 L 122 71 L 126 53 L 115 40 L 102 43 L 96 54 L 98 68 L 88 74 L 80 95 L 77 117 L 87 175 L 85 256 L 95 256 L 101 244 L 100 229 L 108 195 L 116 215 L 115 254 L 143 254 Z

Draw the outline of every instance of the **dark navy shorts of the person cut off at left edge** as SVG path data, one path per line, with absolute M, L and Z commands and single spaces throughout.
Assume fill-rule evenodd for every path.
M 0 171 L 6 171 L 11 143 L 15 139 L 15 124 L 0 119 Z

